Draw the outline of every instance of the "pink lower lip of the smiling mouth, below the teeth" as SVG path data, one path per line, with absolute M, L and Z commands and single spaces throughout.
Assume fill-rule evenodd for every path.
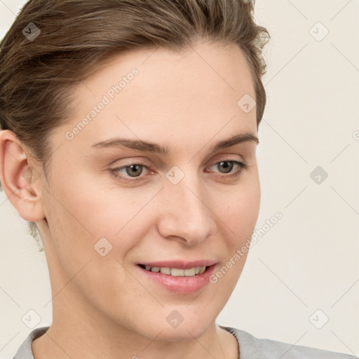
M 140 270 L 144 276 L 154 280 L 155 283 L 161 285 L 170 292 L 176 292 L 178 294 L 191 294 L 198 292 L 203 287 L 208 285 L 210 281 L 210 276 L 215 271 L 216 264 L 208 266 L 208 268 L 202 273 L 197 274 L 196 276 L 186 277 L 186 276 L 170 276 L 168 274 L 163 274 L 161 272 L 152 272 L 147 271 L 146 269 L 137 266 L 137 269 Z

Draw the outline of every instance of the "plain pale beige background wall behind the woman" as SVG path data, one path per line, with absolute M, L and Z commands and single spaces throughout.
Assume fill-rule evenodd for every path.
M 1 38 L 23 4 L 0 0 Z M 256 18 L 272 38 L 257 150 L 265 234 L 217 322 L 359 355 L 359 1 L 257 0 Z M 45 256 L 4 192 L 0 224 L 0 358 L 12 358 L 31 331 L 25 313 L 50 325 L 51 294 Z

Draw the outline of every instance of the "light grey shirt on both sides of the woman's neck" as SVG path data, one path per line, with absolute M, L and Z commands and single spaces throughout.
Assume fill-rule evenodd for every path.
M 309 346 L 297 346 L 272 339 L 258 339 L 252 334 L 232 327 L 222 329 L 230 332 L 238 340 L 241 355 L 238 359 L 359 359 L 357 356 L 324 351 Z M 39 327 L 29 333 L 15 353 L 13 359 L 34 359 L 31 344 L 44 334 L 49 327 Z

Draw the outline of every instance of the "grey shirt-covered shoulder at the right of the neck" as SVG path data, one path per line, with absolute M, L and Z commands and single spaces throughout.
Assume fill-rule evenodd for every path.
M 272 339 L 259 339 L 244 330 L 233 327 L 224 327 L 222 325 L 219 325 L 219 327 L 231 332 L 237 338 L 241 355 L 239 359 L 359 359 L 355 355 L 293 345 Z

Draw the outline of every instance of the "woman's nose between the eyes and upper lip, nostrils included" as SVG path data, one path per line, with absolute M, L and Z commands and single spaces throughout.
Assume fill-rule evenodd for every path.
M 186 174 L 177 184 L 165 179 L 158 210 L 158 231 L 164 238 L 195 245 L 215 233 L 215 213 L 208 190 L 198 176 Z

